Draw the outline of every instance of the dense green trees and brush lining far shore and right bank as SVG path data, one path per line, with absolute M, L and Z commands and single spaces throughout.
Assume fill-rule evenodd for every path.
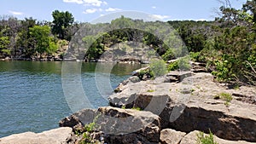
M 221 7 L 222 15 L 214 21 L 145 22 L 122 16 L 111 23 L 96 25 L 73 23 L 73 14 L 58 10 L 53 11 L 51 22 L 3 16 L 0 18 L 0 58 L 55 55 L 67 46 L 79 27 L 85 25 L 87 32 L 99 31 L 94 32 L 96 37 L 87 35 L 81 39 L 84 43 L 91 42 L 90 48 L 84 48 L 86 54 L 82 54 L 86 60 L 97 60 L 114 44 L 133 41 L 144 43 L 166 61 L 187 55 L 169 66 L 169 70 L 181 69 L 181 65 L 182 70 L 187 70 L 186 61 L 191 59 L 206 62 L 219 81 L 256 85 L 255 9 L 256 1 L 247 0 L 241 9 Z M 166 30 L 166 25 L 176 31 Z M 102 33 L 102 27 L 111 31 Z M 160 37 L 163 35 L 168 38 Z M 177 41 L 179 37 L 183 43 Z M 138 45 L 132 49 L 134 55 L 139 51 Z M 125 50 L 120 49 L 120 53 Z

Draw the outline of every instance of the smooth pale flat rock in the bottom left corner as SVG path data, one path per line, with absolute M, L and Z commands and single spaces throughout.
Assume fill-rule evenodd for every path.
M 61 144 L 72 134 L 71 128 L 58 128 L 42 133 L 26 132 L 0 138 L 0 144 Z

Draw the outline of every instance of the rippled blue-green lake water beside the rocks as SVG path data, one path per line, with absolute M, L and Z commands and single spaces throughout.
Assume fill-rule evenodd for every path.
M 78 65 L 76 62 L 73 64 Z M 104 71 L 95 72 L 98 64 L 79 63 L 79 73 L 70 71 L 72 75 L 80 75 L 84 92 L 93 107 L 108 106 L 108 101 L 102 98 L 102 93 L 97 89 L 96 73 L 110 76 L 110 85 L 114 88 L 128 78 L 131 72 L 142 67 L 100 64 L 100 69 L 111 69 L 108 74 Z M 57 128 L 61 118 L 73 113 L 62 89 L 62 65 L 63 62 L 0 61 L 0 137 Z M 108 91 L 103 96 L 106 98 L 111 93 Z

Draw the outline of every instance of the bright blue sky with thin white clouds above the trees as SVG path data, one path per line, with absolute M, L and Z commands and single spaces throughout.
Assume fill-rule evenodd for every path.
M 230 0 L 241 9 L 246 0 Z M 133 10 L 154 14 L 160 20 L 214 20 L 218 0 L 0 0 L 0 15 L 18 19 L 52 20 L 55 9 L 69 11 L 75 20 L 90 22 L 103 14 Z

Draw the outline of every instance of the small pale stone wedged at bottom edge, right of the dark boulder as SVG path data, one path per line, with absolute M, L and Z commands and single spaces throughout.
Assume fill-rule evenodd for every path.
M 186 133 L 172 129 L 161 130 L 160 142 L 161 144 L 177 144 L 183 139 L 184 135 Z

